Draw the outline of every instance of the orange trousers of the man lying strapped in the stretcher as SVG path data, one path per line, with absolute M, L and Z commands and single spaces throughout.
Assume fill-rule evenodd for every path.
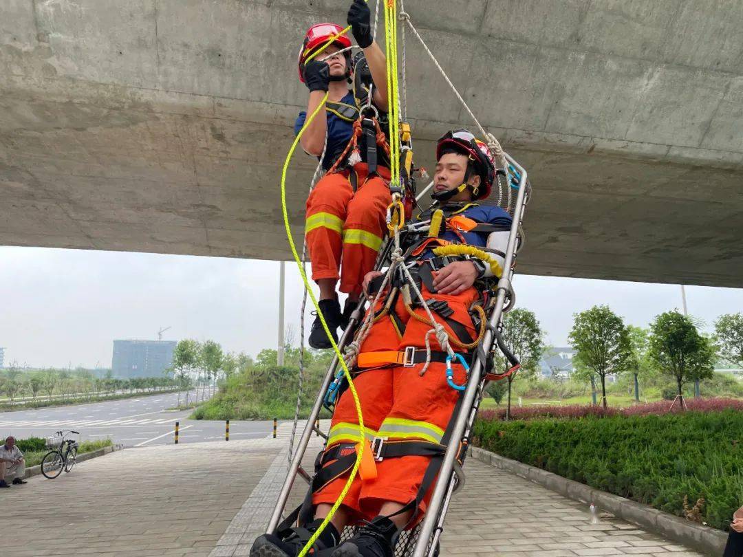
M 424 299 L 444 300 L 454 310 L 453 319 L 467 328 L 470 336 L 475 338 L 473 322 L 467 310 L 478 298 L 475 288 L 470 288 L 458 296 L 432 295 L 425 288 Z M 377 310 L 379 308 L 377 307 Z M 401 297 L 395 310 L 406 324 L 402 338 L 392 325 L 392 319 L 386 316 L 380 319 L 361 346 L 362 352 L 404 350 L 414 346 L 425 350 L 425 336 L 430 330 L 428 325 L 412 319 L 403 307 Z M 426 316 L 425 310 L 415 310 Z M 457 338 L 451 328 L 434 314 L 436 320 L 444 325 L 450 336 Z M 435 336 L 431 337 L 432 350 L 441 350 Z M 458 391 L 447 384 L 446 365 L 432 362 L 426 373 L 421 376 L 423 364 L 412 368 L 402 366 L 364 371 L 354 379 L 354 385 L 361 402 L 361 410 L 366 429 L 366 440 L 374 437 L 389 439 L 418 439 L 441 442 L 444 430 L 452 417 L 452 411 L 458 400 Z M 454 381 L 458 385 L 467 381 L 464 367 L 452 362 Z M 328 447 L 338 443 L 357 443 L 360 440 L 358 417 L 353 395 L 346 390 L 340 397 L 333 414 L 331 429 L 328 435 Z M 380 507 L 386 501 L 407 504 L 415 499 L 421 481 L 428 466 L 430 457 L 404 456 L 387 458 L 377 463 L 377 478 L 362 480 L 354 478 L 343 504 L 351 509 L 354 521 L 371 520 L 379 514 Z M 332 460 L 327 464 L 333 462 Z M 313 504 L 333 504 L 348 480 L 344 475 L 331 481 L 313 495 Z M 418 519 L 426 509 L 429 494 L 419 506 Z

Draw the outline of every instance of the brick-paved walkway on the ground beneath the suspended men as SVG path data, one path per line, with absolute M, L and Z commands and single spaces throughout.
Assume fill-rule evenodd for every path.
M 291 425 L 290 425 L 291 426 Z M 46 555 L 244 556 L 265 528 L 286 469 L 279 439 L 126 449 L 37 476 L 0 492 L 2 553 Z M 312 437 L 305 462 L 320 444 Z M 631 524 L 588 509 L 474 459 L 455 495 L 442 556 L 697 556 Z M 305 483 L 297 479 L 293 501 Z

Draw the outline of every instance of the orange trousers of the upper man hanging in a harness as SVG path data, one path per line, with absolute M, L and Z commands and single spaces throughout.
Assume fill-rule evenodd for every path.
M 322 177 L 307 199 L 305 236 L 312 263 L 312 279 L 340 278 L 339 290 L 358 295 L 366 273 L 386 234 L 389 170 L 377 168 L 369 177 L 366 163 L 358 163 L 354 192 L 349 172 Z

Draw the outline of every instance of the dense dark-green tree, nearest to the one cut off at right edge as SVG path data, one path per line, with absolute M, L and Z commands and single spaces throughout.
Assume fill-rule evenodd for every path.
M 658 368 L 675 378 L 677 398 L 684 408 L 684 383 L 709 379 L 714 372 L 715 350 L 710 339 L 699 334 L 688 316 L 666 311 L 650 325 L 649 356 Z M 675 403 L 675 400 L 674 400 Z

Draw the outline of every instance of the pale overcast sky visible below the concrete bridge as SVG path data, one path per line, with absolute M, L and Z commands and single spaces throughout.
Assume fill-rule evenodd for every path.
M 573 313 L 594 304 L 640 326 L 681 308 L 678 285 L 517 276 L 514 287 L 554 346 L 566 344 Z M 276 261 L 0 247 L 0 347 L 5 365 L 108 368 L 114 339 L 157 339 L 170 327 L 163 339 L 214 339 L 255 355 L 276 346 L 278 293 Z M 286 322 L 295 330 L 301 300 L 288 263 Z M 687 287 L 687 302 L 709 328 L 721 313 L 743 311 L 743 289 Z

